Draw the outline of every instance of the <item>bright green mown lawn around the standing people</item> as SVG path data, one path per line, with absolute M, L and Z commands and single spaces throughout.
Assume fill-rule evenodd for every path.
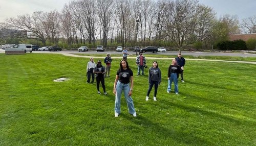
M 179 80 L 176 95 L 166 92 L 170 60 L 161 59 L 158 101 L 154 90 L 145 101 L 147 76 L 135 76 L 138 117 L 128 113 L 122 96 L 116 118 L 113 83 L 120 59 L 113 60 L 105 79 L 109 94 L 99 95 L 96 84 L 86 84 L 88 58 L 33 53 L 0 58 L 0 145 L 256 144 L 255 64 L 186 61 L 185 82 Z M 136 75 L 135 59 L 128 62 Z M 61 77 L 70 80 L 53 82 Z

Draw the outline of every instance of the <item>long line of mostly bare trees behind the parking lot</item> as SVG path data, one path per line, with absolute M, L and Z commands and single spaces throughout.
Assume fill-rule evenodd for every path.
M 5 28 L 25 30 L 27 39 L 66 47 L 176 46 L 181 51 L 200 42 L 211 48 L 228 34 L 255 33 L 256 16 L 243 19 L 214 10 L 196 0 L 78 0 L 60 12 L 33 12 L 8 18 Z M 3 26 L 0 25 L 0 29 Z M 1 38 L 0 38 L 1 39 Z

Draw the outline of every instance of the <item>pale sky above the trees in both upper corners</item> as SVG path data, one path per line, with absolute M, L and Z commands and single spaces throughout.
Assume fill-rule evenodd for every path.
M 69 2 L 70 0 L 0 0 L 0 22 L 9 17 L 32 14 L 34 11 L 60 11 Z M 218 18 L 230 14 L 237 15 L 242 20 L 256 15 L 256 0 L 199 0 L 199 3 L 213 8 Z

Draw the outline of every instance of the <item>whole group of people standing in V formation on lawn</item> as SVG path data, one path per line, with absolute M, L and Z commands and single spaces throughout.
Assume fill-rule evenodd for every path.
M 110 54 L 107 54 L 104 63 L 106 64 L 106 67 L 102 66 L 101 61 L 98 60 L 97 64 L 94 62 L 93 58 L 90 58 L 90 61 L 87 64 L 87 83 L 90 83 L 90 78 L 92 76 L 92 82 L 94 83 L 94 74 L 96 74 L 96 82 L 97 82 L 97 90 L 98 94 L 100 94 L 99 91 L 99 83 L 101 82 L 104 94 L 106 93 L 105 90 L 105 83 L 104 78 L 110 77 L 110 68 L 111 68 L 111 62 L 112 59 L 110 57 Z M 137 76 L 144 75 L 144 68 L 146 67 L 146 59 L 142 55 L 142 52 L 139 52 L 139 55 L 136 58 L 136 64 L 138 66 L 138 72 Z M 127 51 L 123 51 L 123 59 L 120 62 L 120 68 L 116 72 L 116 79 L 114 82 L 114 89 L 113 93 L 116 96 L 115 100 L 115 117 L 118 117 L 118 115 L 121 113 L 121 94 L 124 92 L 124 98 L 127 103 L 127 107 L 129 109 L 129 113 L 132 114 L 134 117 L 137 116 L 134 103 L 132 99 L 132 93 L 133 93 L 133 85 L 134 85 L 134 79 L 133 79 L 133 71 L 129 67 L 129 64 L 127 62 Z M 178 54 L 178 57 L 172 60 L 172 64 L 168 67 L 168 86 L 167 86 L 167 93 L 170 92 L 172 87 L 172 82 L 174 82 L 174 91 L 176 94 L 178 94 L 178 78 L 179 74 L 181 74 L 181 81 L 183 80 L 183 67 L 185 65 L 185 59 L 181 56 L 181 53 Z M 108 69 L 107 69 L 108 68 Z M 158 86 L 161 84 L 161 70 L 158 67 L 157 61 L 154 61 L 152 63 L 152 67 L 148 69 L 148 90 L 146 94 L 146 101 L 149 99 L 150 92 L 154 86 L 154 101 L 157 101 L 156 95 L 157 95 L 157 89 Z

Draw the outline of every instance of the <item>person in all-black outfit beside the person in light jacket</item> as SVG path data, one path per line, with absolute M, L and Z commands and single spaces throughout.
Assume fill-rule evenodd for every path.
M 101 65 L 101 61 L 97 61 L 97 65 L 94 67 L 94 74 L 96 74 L 96 83 L 97 83 L 97 89 L 98 89 L 98 94 L 100 94 L 99 91 L 99 82 L 101 82 L 104 94 L 106 93 L 106 88 L 105 88 L 105 80 L 104 80 L 104 74 L 105 74 L 105 67 Z

